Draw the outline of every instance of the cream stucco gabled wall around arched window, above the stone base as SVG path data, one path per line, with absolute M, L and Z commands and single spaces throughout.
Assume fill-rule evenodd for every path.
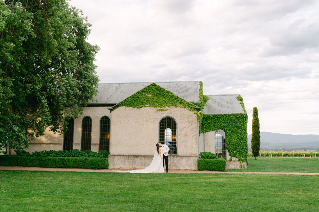
M 159 141 L 159 121 L 171 116 L 177 124 L 177 155 L 197 156 L 197 117 L 193 111 L 171 107 L 119 107 L 112 111 L 111 155 L 154 155 Z

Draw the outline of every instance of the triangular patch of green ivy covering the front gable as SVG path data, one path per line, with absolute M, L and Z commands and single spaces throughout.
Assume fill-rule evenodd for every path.
M 117 104 L 118 107 L 155 107 L 163 108 L 157 111 L 165 111 L 166 107 L 182 107 L 190 111 L 196 111 L 196 108 L 190 102 L 176 96 L 174 93 L 165 90 L 164 88 L 152 83 L 145 88 L 134 93 L 132 96 L 124 99 Z

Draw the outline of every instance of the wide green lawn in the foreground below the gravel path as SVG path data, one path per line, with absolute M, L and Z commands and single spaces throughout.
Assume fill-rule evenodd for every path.
M 0 211 L 318 211 L 319 176 L 0 171 Z

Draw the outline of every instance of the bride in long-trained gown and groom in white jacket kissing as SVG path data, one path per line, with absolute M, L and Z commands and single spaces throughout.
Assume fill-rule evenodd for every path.
M 160 142 L 156 145 L 155 154 L 151 164 L 145 169 L 135 169 L 130 171 L 114 171 L 114 172 L 130 172 L 130 173 L 163 173 L 164 161 L 166 165 L 166 172 L 168 172 L 168 151 L 169 148 Z

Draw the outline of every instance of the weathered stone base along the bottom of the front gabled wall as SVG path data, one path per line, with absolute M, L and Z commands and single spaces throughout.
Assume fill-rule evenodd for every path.
M 154 155 L 108 155 L 109 169 L 143 169 L 150 165 Z M 197 170 L 197 156 L 168 156 L 168 170 Z M 165 165 L 164 165 L 165 167 Z

